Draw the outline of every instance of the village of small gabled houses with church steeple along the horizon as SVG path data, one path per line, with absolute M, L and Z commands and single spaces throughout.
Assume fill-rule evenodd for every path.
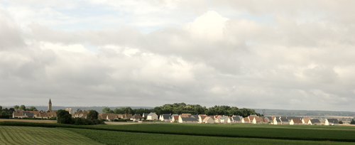
M 13 109 L 13 108 L 12 108 Z M 48 102 L 48 110 L 46 112 L 24 111 L 23 109 L 13 109 L 12 117 L 14 119 L 56 119 L 58 110 L 52 109 L 52 102 Z M 77 112 L 72 108 L 66 108 L 65 111 L 72 115 L 72 118 L 87 119 L 89 111 L 78 109 Z M 127 122 L 178 122 L 178 123 L 195 123 L 195 124 L 290 124 L 290 125 L 339 125 L 338 119 L 325 119 L 321 124 L 319 119 L 302 118 L 302 117 L 263 117 L 251 114 L 248 117 L 233 115 L 231 117 L 225 115 L 207 115 L 207 114 L 114 114 L 99 113 L 98 119 L 104 119 L 107 122 L 115 122 L 117 120 L 126 119 Z

